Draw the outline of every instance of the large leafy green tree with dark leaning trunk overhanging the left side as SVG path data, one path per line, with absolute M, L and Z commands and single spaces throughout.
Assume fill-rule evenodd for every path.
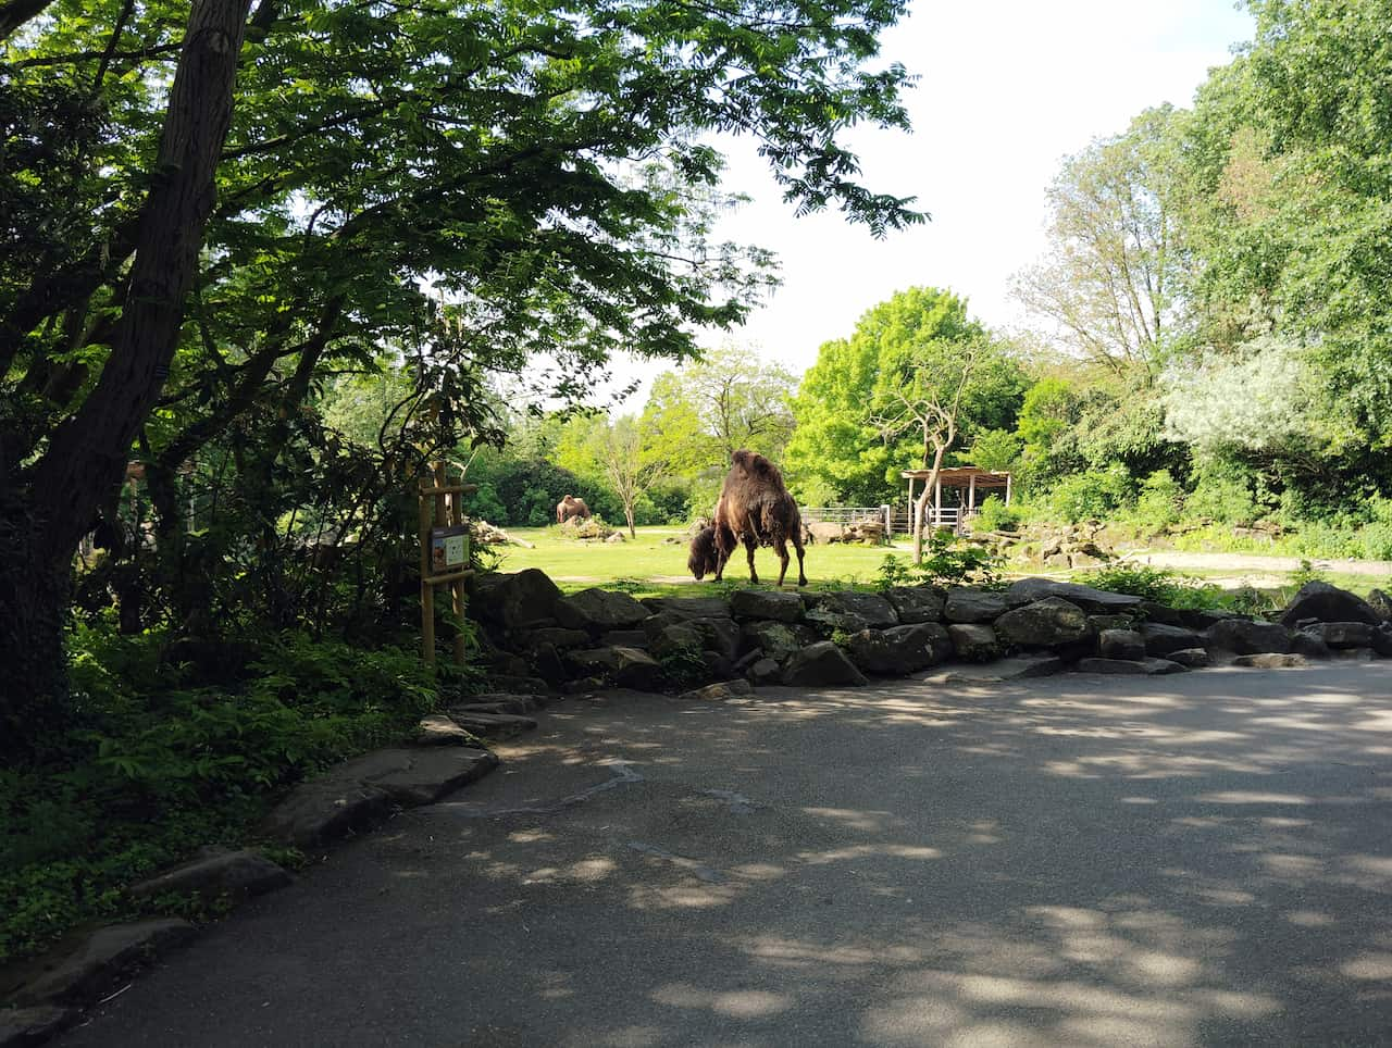
M 724 206 L 707 131 L 757 135 L 799 210 L 837 205 L 876 232 L 922 220 L 860 186 L 839 142 L 859 120 L 906 125 L 906 72 L 866 68 L 896 0 L 248 8 L 0 13 L 0 224 L 17 234 L 0 657 L 25 696 L 7 689 L 0 722 L 18 753 L 64 707 L 71 554 L 132 445 L 188 573 L 181 463 L 226 450 L 264 494 L 246 526 L 269 541 L 283 466 L 327 441 L 305 405 L 384 347 L 413 386 L 402 455 L 497 440 L 498 374 L 574 402 L 618 347 L 690 355 L 692 330 L 736 324 L 770 281 L 761 252 L 706 234 Z M 411 473 L 379 465 L 390 484 Z

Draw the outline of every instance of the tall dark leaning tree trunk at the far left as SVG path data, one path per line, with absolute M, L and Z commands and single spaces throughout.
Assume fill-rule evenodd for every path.
M 168 377 L 213 210 L 249 8 L 251 0 L 195 0 L 111 355 L 43 456 L 22 473 L 11 468 L 0 491 L 10 532 L 0 550 L 0 665 L 8 675 L 0 725 L 14 728 L 0 739 L 0 756 L 40 749 L 47 724 L 67 706 L 61 624 L 72 555 L 97 505 L 121 483 L 131 443 Z

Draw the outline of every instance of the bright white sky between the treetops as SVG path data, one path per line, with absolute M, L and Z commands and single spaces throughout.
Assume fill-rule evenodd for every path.
M 883 51 L 920 77 L 906 99 L 915 131 L 864 128 L 849 142 L 866 186 L 915 195 L 933 220 L 876 241 L 838 212 L 795 219 L 753 148 L 736 142 L 725 185 L 753 203 L 718 234 L 773 249 L 784 285 L 732 341 L 800 374 L 824 341 L 916 284 L 965 295 L 990 327 L 1020 326 L 1011 276 L 1044 249 L 1044 191 L 1059 161 L 1143 109 L 1190 104 L 1250 35 L 1232 0 L 916 0 Z

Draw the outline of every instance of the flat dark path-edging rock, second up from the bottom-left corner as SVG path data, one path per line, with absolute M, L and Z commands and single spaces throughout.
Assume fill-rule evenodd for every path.
M 132 969 L 193 937 L 187 920 L 164 917 L 97 928 L 82 946 L 15 992 L 15 1003 L 89 1003 Z

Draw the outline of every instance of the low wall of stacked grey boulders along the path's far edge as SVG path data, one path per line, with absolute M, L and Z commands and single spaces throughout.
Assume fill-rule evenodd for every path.
M 529 569 L 477 576 L 469 614 L 497 676 L 539 678 L 553 690 L 688 690 L 735 679 L 860 685 L 1020 654 L 1084 672 L 1136 674 L 1392 656 L 1384 612 L 1325 583 L 1310 583 L 1279 621 L 1263 622 L 1051 579 L 1022 579 L 999 592 L 749 589 L 636 600 L 599 587 L 564 596 L 544 572 Z

